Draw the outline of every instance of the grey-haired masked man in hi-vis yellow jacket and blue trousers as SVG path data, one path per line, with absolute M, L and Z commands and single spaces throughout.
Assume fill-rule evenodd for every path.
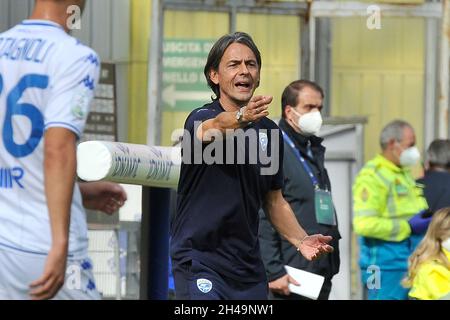
M 353 185 L 353 229 L 360 237 L 365 298 L 407 299 L 401 280 L 408 257 L 431 220 L 409 167 L 420 160 L 412 126 L 395 120 L 380 135 L 382 152 L 358 173 Z

